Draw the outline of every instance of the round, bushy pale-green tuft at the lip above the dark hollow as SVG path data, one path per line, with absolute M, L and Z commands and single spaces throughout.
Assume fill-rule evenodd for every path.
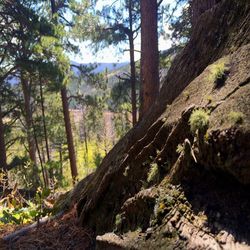
M 209 113 L 204 109 L 196 109 L 189 118 L 191 131 L 195 133 L 197 130 L 205 131 L 209 124 Z

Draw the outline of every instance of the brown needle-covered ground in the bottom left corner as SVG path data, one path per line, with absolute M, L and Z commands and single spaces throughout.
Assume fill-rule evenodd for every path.
M 5 249 L 90 249 L 91 233 L 78 226 L 76 210 L 62 217 L 41 225 L 26 235 L 11 240 L 8 243 L 3 237 L 20 229 L 21 226 L 5 225 L 0 227 L 0 250 Z

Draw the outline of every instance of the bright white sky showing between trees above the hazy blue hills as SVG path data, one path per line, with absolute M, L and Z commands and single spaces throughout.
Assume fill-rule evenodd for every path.
M 100 0 L 98 8 L 101 9 L 103 5 L 112 3 L 114 0 Z M 173 3 L 175 0 L 163 0 L 163 4 Z M 167 25 L 164 27 L 167 29 Z M 129 62 L 129 52 L 124 51 L 120 52 L 117 49 L 117 46 L 110 46 L 108 48 L 102 49 L 99 52 L 94 52 L 91 50 L 91 46 L 88 46 L 90 42 L 84 42 L 79 44 L 80 52 L 77 55 L 69 55 L 71 61 L 78 63 L 119 63 L 119 62 Z M 140 51 L 140 35 L 136 38 L 135 50 Z M 119 46 L 119 45 L 118 45 Z M 159 50 L 166 50 L 170 48 L 171 41 L 166 40 L 163 37 L 159 37 Z M 128 45 L 125 45 L 121 48 L 122 50 L 128 49 Z M 140 59 L 140 53 L 135 52 L 135 59 Z

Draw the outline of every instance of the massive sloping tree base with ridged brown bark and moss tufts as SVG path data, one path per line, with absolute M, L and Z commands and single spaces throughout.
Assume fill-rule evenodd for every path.
M 100 249 L 250 244 L 249 27 L 249 1 L 203 13 L 156 105 L 84 182 L 81 223 L 123 234 L 97 237 Z

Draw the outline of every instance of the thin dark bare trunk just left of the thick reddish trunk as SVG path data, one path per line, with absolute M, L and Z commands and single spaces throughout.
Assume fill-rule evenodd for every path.
M 136 71 L 135 71 L 135 49 L 133 37 L 133 19 L 132 19 L 132 1 L 129 1 L 129 51 L 130 51 L 130 81 L 131 81 L 131 101 L 132 101 L 132 123 L 135 126 L 137 122 L 137 107 L 136 107 Z

